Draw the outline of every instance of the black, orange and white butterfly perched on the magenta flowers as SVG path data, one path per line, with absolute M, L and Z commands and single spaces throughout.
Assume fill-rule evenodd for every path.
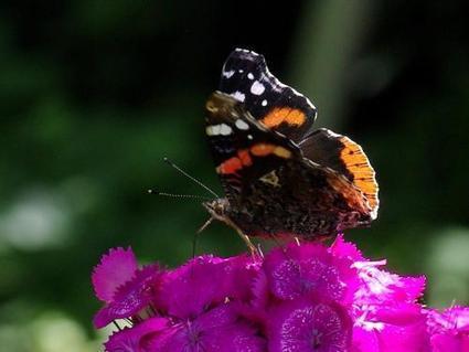
M 375 173 L 362 148 L 310 131 L 311 102 L 280 83 L 264 56 L 235 50 L 206 103 L 206 135 L 226 198 L 205 202 L 244 236 L 317 239 L 370 224 Z

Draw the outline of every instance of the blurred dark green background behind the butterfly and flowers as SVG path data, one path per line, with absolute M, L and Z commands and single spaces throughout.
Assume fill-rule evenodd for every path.
M 191 256 L 221 192 L 203 106 L 236 46 L 308 95 L 318 125 L 369 154 L 381 186 L 372 258 L 426 274 L 425 301 L 469 303 L 467 1 L 2 1 L 0 345 L 98 351 L 89 274 L 109 247 L 142 263 Z M 465 38 L 466 36 L 466 38 Z M 198 253 L 244 250 L 222 224 Z

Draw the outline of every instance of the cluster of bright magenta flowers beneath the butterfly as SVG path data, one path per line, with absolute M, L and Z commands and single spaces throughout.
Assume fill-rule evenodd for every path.
M 425 277 L 384 265 L 342 236 L 175 269 L 139 267 L 130 248 L 110 249 L 93 273 L 105 303 L 94 324 L 130 322 L 108 352 L 469 351 L 469 308 L 426 308 Z

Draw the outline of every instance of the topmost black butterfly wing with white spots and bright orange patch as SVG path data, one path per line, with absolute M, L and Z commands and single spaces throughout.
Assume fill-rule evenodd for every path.
M 309 131 L 316 108 L 311 102 L 283 84 L 269 71 L 263 55 L 236 49 L 226 58 L 220 90 L 244 103 L 265 127 L 299 142 Z

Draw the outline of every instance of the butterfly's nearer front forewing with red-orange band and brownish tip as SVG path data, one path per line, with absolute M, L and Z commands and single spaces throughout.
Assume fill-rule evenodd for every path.
M 215 92 L 206 103 L 210 149 L 230 203 L 241 204 L 247 183 L 300 154 L 287 138 L 258 124 L 232 96 Z M 259 162 L 262 159 L 262 162 Z

